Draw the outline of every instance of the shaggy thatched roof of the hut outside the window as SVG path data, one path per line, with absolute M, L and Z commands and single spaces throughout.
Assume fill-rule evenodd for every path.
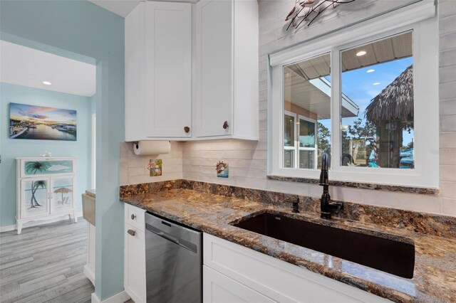
M 366 107 L 366 118 L 380 121 L 406 121 L 413 117 L 413 65 L 376 95 Z

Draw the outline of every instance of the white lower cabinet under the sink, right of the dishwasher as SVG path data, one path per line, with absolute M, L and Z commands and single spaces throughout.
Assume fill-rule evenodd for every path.
M 389 302 L 204 233 L 203 302 Z

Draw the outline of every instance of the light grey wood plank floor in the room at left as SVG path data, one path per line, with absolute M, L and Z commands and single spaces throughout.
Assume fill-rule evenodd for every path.
M 90 302 L 86 228 L 80 218 L 0 233 L 0 302 Z

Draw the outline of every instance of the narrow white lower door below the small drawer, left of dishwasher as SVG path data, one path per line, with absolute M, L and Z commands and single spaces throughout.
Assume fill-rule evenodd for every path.
M 125 224 L 124 271 L 125 292 L 135 302 L 146 302 L 144 233 L 128 224 Z

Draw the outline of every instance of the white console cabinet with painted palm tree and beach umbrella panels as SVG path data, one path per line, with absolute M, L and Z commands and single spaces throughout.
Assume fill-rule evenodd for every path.
M 76 158 L 16 158 L 16 228 L 70 216 L 76 222 Z

